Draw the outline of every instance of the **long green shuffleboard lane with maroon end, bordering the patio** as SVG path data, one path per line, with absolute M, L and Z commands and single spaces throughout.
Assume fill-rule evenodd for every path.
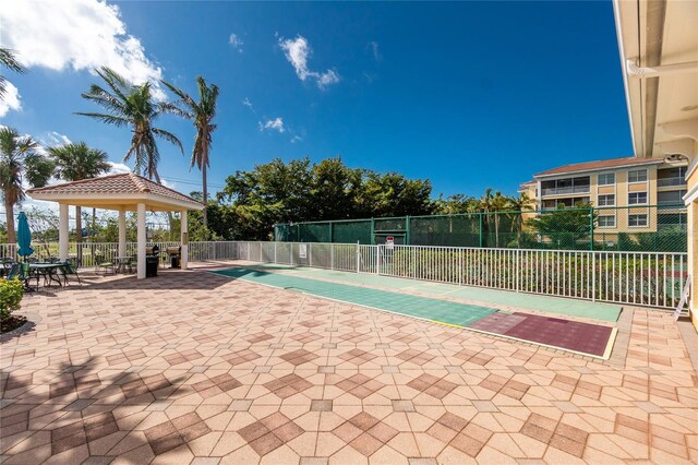
M 611 326 L 521 312 L 507 313 L 494 308 L 284 273 L 245 267 L 212 273 L 604 359 L 611 355 L 616 334 Z

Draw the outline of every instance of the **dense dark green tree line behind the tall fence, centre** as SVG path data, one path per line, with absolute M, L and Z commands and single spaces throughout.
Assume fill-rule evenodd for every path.
M 221 239 L 266 240 L 273 225 L 314 220 L 530 210 L 526 194 L 488 189 L 476 198 L 433 198 L 429 179 L 350 168 L 341 158 L 274 159 L 226 179 L 208 202 L 208 233 Z M 193 215 L 196 224 L 196 214 Z M 195 227 L 195 226 L 194 226 Z

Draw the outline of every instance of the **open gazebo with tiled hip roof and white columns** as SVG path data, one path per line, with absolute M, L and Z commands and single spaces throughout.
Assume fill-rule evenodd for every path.
M 186 212 L 204 210 L 196 200 L 166 188 L 133 172 L 103 176 L 82 181 L 65 182 L 45 188 L 29 189 L 35 200 L 58 202 L 60 206 L 59 258 L 68 259 L 68 207 L 116 210 L 119 212 L 119 255 L 127 254 L 127 212 L 137 212 L 137 277 L 145 277 L 145 212 L 181 212 L 181 266 L 186 269 L 189 234 Z

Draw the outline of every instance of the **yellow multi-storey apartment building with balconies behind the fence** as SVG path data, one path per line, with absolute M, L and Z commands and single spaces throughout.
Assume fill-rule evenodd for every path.
M 565 165 L 521 184 L 538 211 L 591 204 L 598 233 L 686 228 L 686 163 L 625 157 Z

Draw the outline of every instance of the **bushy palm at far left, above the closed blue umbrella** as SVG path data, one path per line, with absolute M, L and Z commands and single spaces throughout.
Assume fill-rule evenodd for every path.
M 38 144 L 14 128 L 0 128 L 0 189 L 4 200 L 8 242 L 17 241 L 14 205 L 24 199 L 23 181 L 40 188 L 53 176 L 53 164 L 36 152 Z

